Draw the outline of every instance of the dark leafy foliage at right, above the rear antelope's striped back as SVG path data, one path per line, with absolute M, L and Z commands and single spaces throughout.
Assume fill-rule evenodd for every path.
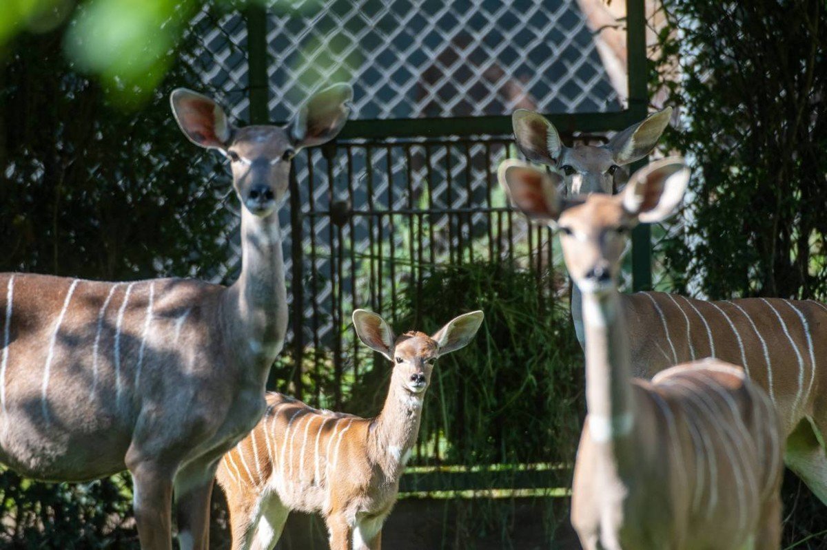
M 653 84 L 680 107 L 664 141 L 694 164 L 696 195 L 667 247 L 679 290 L 824 298 L 827 5 L 663 4 Z

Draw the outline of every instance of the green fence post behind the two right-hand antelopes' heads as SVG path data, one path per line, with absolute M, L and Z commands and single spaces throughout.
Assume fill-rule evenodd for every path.
M 626 0 L 626 48 L 629 52 L 629 115 L 642 121 L 648 113 L 646 12 L 644 0 Z M 633 170 L 645 163 L 635 163 Z M 652 288 L 652 230 L 641 224 L 632 231 L 632 289 Z

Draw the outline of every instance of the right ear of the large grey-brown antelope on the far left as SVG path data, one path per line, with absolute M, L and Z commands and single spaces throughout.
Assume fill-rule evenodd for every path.
M 339 83 L 304 102 L 289 125 L 296 147 L 322 145 L 336 137 L 347 122 L 352 100 L 353 88 Z

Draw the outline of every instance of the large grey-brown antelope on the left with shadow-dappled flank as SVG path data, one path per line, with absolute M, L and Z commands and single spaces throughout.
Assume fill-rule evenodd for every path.
M 295 151 L 330 140 L 351 88 L 312 97 L 289 126 L 234 128 L 208 97 L 177 89 L 189 140 L 232 164 L 241 274 L 96 282 L 0 275 L 0 461 L 27 477 L 83 481 L 128 468 L 141 548 L 207 548 L 218 460 L 261 419 L 287 325 L 278 210 Z

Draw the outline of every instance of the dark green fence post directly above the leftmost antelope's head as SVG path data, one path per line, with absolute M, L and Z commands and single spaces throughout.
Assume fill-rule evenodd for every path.
M 265 124 L 267 107 L 267 10 L 263 4 L 251 2 L 246 9 L 247 79 L 250 86 L 250 121 Z

